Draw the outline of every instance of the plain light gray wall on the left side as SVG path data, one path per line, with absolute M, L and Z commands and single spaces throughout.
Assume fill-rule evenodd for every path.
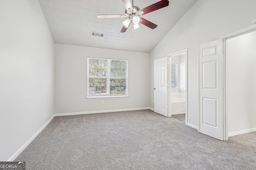
M 0 161 L 6 161 L 54 114 L 54 41 L 37 0 L 1 0 L 0 25 Z

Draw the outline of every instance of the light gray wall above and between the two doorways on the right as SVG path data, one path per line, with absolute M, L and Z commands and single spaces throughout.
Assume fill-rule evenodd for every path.
M 188 48 L 188 125 L 198 127 L 198 45 L 252 25 L 255 9 L 256 0 L 198 0 L 150 53 L 150 107 L 154 60 Z

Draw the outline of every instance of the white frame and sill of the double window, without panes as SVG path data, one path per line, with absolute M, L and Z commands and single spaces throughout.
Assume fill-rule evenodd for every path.
M 107 91 L 107 94 L 93 94 L 93 95 L 89 95 L 89 73 L 90 73 L 90 62 L 89 60 L 90 59 L 103 59 L 103 60 L 107 60 L 107 84 L 106 84 L 106 91 Z M 126 75 L 126 94 L 110 94 L 110 79 L 112 77 L 110 77 L 110 69 L 111 69 L 111 60 L 115 60 L 115 61 L 125 61 L 126 62 L 126 72 L 125 72 L 125 75 Z M 123 78 L 123 77 L 113 77 L 113 78 Z M 106 99 L 106 98 L 113 98 L 113 99 L 116 99 L 116 98 L 128 98 L 128 60 L 123 60 L 123 59 L 107 59 L 107 58 L 100 58 L 100 57 L 87 57 L 87 99 L 88 100 L 96 100 L 96 99 Z

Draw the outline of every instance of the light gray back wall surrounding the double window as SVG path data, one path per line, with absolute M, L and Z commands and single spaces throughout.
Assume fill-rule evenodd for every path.
M 150 54 L 61 44 L 55 50 L 56 113 L 149 107 Z M 87 57 L 128 60 L 129 98 L 87 100 Z

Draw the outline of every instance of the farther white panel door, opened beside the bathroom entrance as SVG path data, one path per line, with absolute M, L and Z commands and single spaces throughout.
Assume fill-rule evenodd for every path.
M 168 116 L 168 57 L 154 61 L 154 111 Z

